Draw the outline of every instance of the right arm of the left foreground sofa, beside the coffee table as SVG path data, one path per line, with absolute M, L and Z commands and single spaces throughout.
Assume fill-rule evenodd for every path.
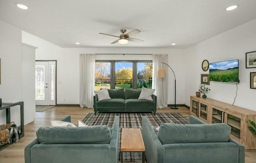
M 119 147 L 119 123 L 120 123 L 120 118 L 119 116 L 115 116 L 114 124 L 112 127 L 112 135 L 111 135 L 111 140 L 109 144 L 109 163 L 117 163 L 118 162 L 118 147 Z

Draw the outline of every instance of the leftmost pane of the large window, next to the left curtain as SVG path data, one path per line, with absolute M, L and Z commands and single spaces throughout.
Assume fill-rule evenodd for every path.
M 95 90 L 110 89 L 110 62 L 95 63 Z

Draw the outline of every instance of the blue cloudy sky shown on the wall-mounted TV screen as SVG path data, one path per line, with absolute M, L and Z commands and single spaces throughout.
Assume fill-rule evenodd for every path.
M 238 67 L 238 59 L 232 60 L 232 61 L 210 63 L 210 70 L 211 69 L 226 70 L 233 67 Z

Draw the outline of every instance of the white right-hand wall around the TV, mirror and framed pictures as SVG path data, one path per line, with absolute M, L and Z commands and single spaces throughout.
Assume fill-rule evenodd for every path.
M 234 105 L 256 111 L 256 90 L 250 89 L 250 72 L 246 69 L 245 53 L 256 51 L 256 19 L 241 26 L 216 35 L 206 41 L 186 49 L 186 82 L 185 104 L 190 104 L 190 95 L 195 95 L 200 84 L 200 74 L 209 73 L 202 71 L 204 59 L 209 63 L 239 59 L 239 78 L 237 97 Z M 235 83 L 210 82 L 209 98 L 232 104 L 236 96 Z

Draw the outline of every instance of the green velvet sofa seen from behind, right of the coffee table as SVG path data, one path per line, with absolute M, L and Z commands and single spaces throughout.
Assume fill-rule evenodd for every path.
M 205 124 L 194 116 L 188 123 L 162 123 L 157 134 L 142 117 L 147 163 L 244 163 L 244 146 L 230 138 L 230 126 Z

